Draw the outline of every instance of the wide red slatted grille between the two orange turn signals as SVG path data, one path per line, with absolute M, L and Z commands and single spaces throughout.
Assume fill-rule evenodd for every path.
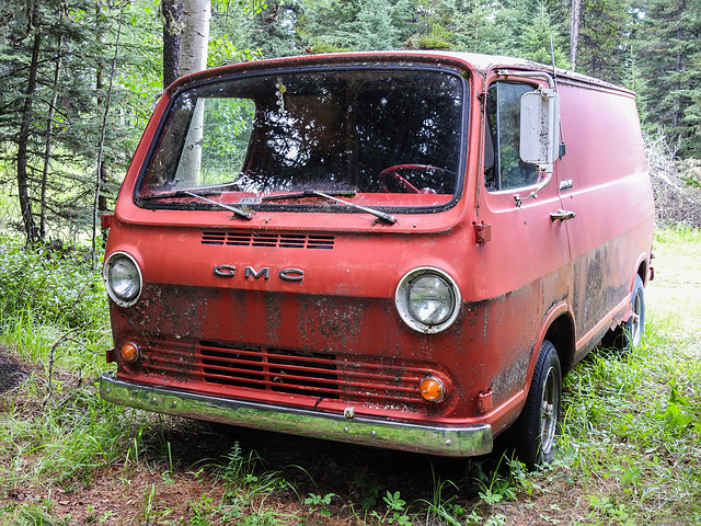
M 277 393 L 402 411 L 426 408 L 418 384 L 429 367 L 421 363 L 218 342 L 160 342 L 142 352 L 147 376 L 192 389 L 202 384 L 261 399 Z

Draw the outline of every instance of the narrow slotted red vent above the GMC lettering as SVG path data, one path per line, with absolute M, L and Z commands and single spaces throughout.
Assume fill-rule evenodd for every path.
M 202 244 L 331 250 L 333 249 L 334 237 L 304 233 L 237 232 L 210 230 L 203 232 Z

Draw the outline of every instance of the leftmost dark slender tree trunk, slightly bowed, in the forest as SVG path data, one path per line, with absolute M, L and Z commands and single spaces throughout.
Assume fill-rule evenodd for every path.
M 34 247 L 38 235 L 34 216 L 32 214 L 32 202 L 30 198 L 30 182 L 27 175 L 27 142 L 30 139 L 30 126 L 32 124 L 32 99 L 36 91 L 36 76 L 38 70 L 39 47 L 42 32 L 37 27 L 34 33 L 34 46 L 32 49 L 32 62 L 30 65 L 30 76 L 27 79 L 24 107 L 22 110 L 22 124 L 18 144 L 18 193 L 20 207 L 22 209 L 22 224 L 27 245 Z

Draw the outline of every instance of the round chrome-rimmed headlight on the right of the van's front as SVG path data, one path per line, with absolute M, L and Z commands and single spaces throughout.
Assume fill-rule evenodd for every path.
M 461 300 L 452 277 L 439 268 L 422 266 L 402 277 L 394 301 L 409 327 L 433 334 L 445 331 L 455 322 Z

